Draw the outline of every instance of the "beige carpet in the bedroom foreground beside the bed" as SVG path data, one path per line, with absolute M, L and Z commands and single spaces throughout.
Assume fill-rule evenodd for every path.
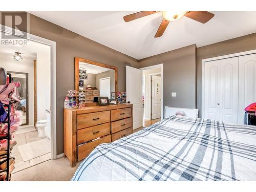
M 12 181 L 70 181 L 75 174 L 79 161 L 75 167 L 70 166 L 67 158 L 49 160 L 12 174 Z

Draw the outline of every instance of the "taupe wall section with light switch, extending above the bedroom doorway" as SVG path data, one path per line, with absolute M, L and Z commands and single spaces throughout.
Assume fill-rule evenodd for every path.
M 163 63 L 164 106 L 196 107 L 196 51 L 191 45 L 139 60 L 139 68 Z

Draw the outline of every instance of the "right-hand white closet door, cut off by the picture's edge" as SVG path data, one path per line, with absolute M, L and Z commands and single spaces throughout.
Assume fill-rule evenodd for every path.
M 239 124 L 244 124 L 244 108 L 256 102 L 256 54 L 239 57 Z

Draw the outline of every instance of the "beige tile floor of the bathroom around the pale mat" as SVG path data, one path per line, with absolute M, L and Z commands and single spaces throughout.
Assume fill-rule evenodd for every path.
M 20 156 L 18 146 L 44 139 L 43 137 L 38 137 L 38 132 L 33 126 L 20 126 L 19 130 L 14 133 L 14 139 L 17 141 L 17 144 L 12 150 L 12 157 L 15 157 L 15 168 L 13 173 L 51 159 L 51 153 L 36 157 L 29 161 L 23 161 L 22 156 Z

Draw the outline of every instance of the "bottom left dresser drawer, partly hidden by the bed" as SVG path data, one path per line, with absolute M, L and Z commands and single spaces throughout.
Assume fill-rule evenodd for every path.
M 98 146 L 101 143 L 110 143 L 111 142 L 111 135 L 105 136 L 103 138 L 100 138 L 96 141 L 92 141 L 90 143 L 78 146 L 78 161 L 86 158 L 93 150 L 96 146 Z

